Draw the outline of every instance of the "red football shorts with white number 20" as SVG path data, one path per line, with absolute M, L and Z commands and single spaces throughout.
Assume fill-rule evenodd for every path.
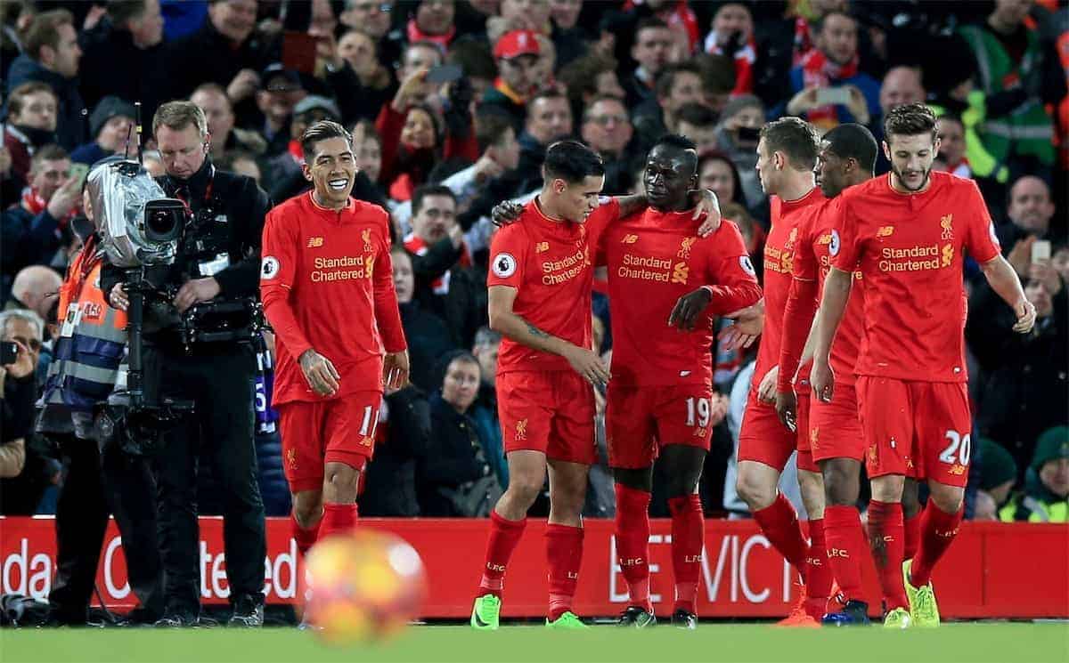
M 964 382 L 857 378 L 870 477 L 899 474 L 964 488 L 972 416 Z

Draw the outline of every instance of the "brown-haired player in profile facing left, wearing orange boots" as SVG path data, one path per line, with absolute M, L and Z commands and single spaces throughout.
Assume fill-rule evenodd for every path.
M 757 172 L 762 188 L 771 195 L 772 230 L 764 244 L 764 333 L 739 435 L 735 489 L 769 541 L 802 575 L 804 585 L 797 603 L 780 623 L 818 627 L 817 619 L 823 616 L 832 590 L 832 573 L 824 559 L 823 486 L 809 453 L 808 436 L 784 428 L 773 406 L 799 226 L 825 199 L 814 181 L 818 142 L 811 125 L 797 117 L 784 117 L 766 124 L 760 136 Z M 804 422 L 808 399 L 799 402 L 799 410 Z M 806 425 L 800 423 L 800 428 L 804 430 Z M 811 544 L 802 535 L 794 507 L 777 488 L 779 475 L 795 451 Z

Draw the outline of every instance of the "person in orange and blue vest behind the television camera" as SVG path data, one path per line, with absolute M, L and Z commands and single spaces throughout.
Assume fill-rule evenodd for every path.
M 88 191 L 82 206 L 94 221 Z M 94 435 L 93 410 L 115 388 L 126 345 L 126 315 L 104 302 L 99 235 L 92 228 L 60 286 L 60 331 L 42 396 L 37 432 L 59 444 L 66 479 L 56 507 L 56 582 L 48 595 L 55 626 L 84 626 L 100 547 L 114 514 L 129 584 L 140 602 L 126 623 L 152 623 L 164 612 L 164 574 L 156 538 L 152 476 L 143 458 Z

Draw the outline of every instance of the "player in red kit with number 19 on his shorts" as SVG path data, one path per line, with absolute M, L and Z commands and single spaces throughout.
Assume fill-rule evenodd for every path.
M 613 224 L 598 251 L 598 264 L 608 266 L 613 314 L 605 428 L 616 479 L 616 546 L 631 595 L 621 626 L 656 622 L 649 571 L 654 460 L 668 477 L 676 578 L 671 620 L 685 629 L 697 625 L 704 542 L 697 487 L 712 428 L 724 415 L 715 412 L 712 389 L 713 317 L 761 298 L 734 223 L 698 237 L 701 221 L 688 196 L 697 187 L 697 162 L 691 140 L 659 140 L 644 173 L 650 206 Z

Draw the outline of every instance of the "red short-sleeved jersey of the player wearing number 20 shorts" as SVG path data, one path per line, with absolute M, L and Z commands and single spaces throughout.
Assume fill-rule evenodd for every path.
M 859 264 L 865 282 L 857 375 L 964 382 L 962 250 L 980 263 L 1001 251 L 976 183 L 933 171 L 927 190 L 905 194 L 887 175 L 840 198 L 841 247 L 832 265 L 853 271 Z

